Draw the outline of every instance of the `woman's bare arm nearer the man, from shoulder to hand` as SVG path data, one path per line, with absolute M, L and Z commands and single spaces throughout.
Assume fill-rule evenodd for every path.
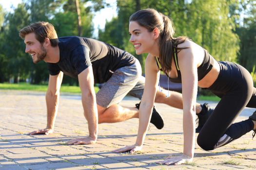
M 145 61 L 145 88 L 143 96 L 141 99 L 139 107 L 139 126 L 138 126 L 138 136 L 136 144 L 132 146 L 127 146 L 121 149 L 117 149 L 113 152 L 126 152 L 134 153 L 141 150 L 144 143 L 144 139 L 147 133 L 149 121 L 151 119 L 152 110 L 154 106 L 157 85 L 158 85 L 158 68 L 155 61 L 155 57 L 148 54 Z

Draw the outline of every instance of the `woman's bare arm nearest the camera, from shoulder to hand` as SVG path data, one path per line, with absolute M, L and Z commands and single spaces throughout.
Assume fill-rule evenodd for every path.
M 183 154 L 170 157 L 160 164 L 183 164 L 191 162 L 195 151 L 195 117 L 196 117 L 196 98 L 197 98 L 197 59 L 191 42 L 182 43 L 184 47 L 178 52 L 178 66 L 182 78 L 182 98 L 183 98 Z M 175 65 L 172 67 L 175 68 Z

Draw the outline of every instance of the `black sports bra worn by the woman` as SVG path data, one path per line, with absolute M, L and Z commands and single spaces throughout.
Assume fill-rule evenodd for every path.
M 204 59 L 202 61 L 202 64 L 197 68 L 198 81 L 202 80 L 204 76 L 213 68 L 213 63 L 214 63 L 214 58 L 209 54 L 209 52 L 205 49 L 203 50 L 204 50 Z M 155 59 L 156 59 L 159 70 L 162 71 L 162 67 L 160 65 L 158 57 L 155 57 Z M 177 57 L 176 48 L 174 48 L 174 62 L 175 62 L 175 67 L 177 69 L 178 76 L 177 78 L 169 78 L 169 79 L 171 82 L 181 83 L 181 74 L 178 67 L 178 57 Z M 167 73 L 165 74 L 167 75 L 167 77 L 169 77 Z

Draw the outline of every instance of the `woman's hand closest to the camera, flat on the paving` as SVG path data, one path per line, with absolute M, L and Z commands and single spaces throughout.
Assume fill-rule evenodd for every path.
M 193 161 L 193 157 L 189 157 L 185 154 L 182 154 L 180 156 L 166 158 L 165 160 L 159 161 L 157 163 L 165 164 L 165 165 L 171 165 L 171 164 L 180 165 L 180 164 L 184 164 L 192 161 Z

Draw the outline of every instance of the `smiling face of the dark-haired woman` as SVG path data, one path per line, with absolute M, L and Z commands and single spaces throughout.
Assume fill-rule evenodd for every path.
M 130 22 L 129 34 L 131 35 L 130 42 L 134 45 L 136 54 L 150 53 L 154 49 L 153 46 L 156 43 L 154 33 L 140 26 L 138 22 Z

